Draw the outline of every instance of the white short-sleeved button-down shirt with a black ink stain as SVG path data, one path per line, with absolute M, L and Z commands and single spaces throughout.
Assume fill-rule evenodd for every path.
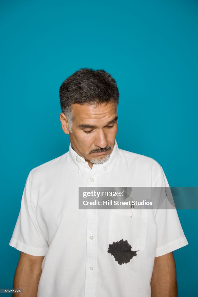
M 109 160 L 92 169 L 71 144 L 32 169 L 9 245 L 45 255 L 37 296 L 151 296 L 154 258 L 188 244 L 177 211 L 79 210 L 78 187 L 162 186 L 167 179 L 155 160 L 118 149 L 116 141 Z M 108 252 L 122 239 L 136 252 L 128 263 Z

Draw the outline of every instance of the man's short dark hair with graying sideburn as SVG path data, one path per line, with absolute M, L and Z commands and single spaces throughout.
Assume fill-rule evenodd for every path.
M 60 86 L 61 110 L 66 115 L 69 131 L 72 132 L 72 104 L 116 102 L 119 91 L 116 81 L 104 70 L 81 68 L 70 75 Z

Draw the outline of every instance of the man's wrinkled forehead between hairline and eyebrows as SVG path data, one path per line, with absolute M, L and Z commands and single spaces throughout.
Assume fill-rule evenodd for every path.
M 77 124 L 93 124 L 95 121 L 112 120 L 117 115 L 117 104 L 115 102 L 102 103 L 99 105 L 93 104 L 72 104 L 72 112 L 74 121 Z

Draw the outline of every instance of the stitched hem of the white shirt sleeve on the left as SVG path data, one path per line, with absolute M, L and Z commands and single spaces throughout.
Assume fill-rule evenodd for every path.
M 21 252 L 24 252 L 32 256 L 45 256 L 48 250 L 48 247 L 29 247 L 23 242 L 13 237 L 10 239 L 9 245 L 11 247 L 14 247 L 15 249 L 18 249 Z

